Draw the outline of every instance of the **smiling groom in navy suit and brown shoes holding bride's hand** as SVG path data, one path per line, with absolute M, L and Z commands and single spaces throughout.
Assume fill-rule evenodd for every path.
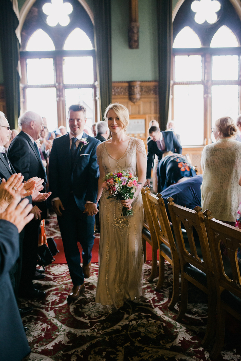
M 70 132 L 54 139 L 49 159 L 49 188 L 57 214 L 65 257 L 73 288 L 68 300 L 79 297 L 84 278 L 91 272 L 91 251 L 95 236 L 99 167 L 96 148 L 100 141 L 84 132 L 86 109 L 69 107 Z M 78 242 L 83 248 L 80 266 Z

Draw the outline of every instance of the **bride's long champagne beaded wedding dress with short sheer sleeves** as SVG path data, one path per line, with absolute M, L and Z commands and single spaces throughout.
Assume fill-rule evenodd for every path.
M 105 142 L 97 149 L 105 174 L 127 170 L 136 174 L 136 152 L 146 157 L 142 140 L 131 138 L 125 154 L 113 158 Z M 138 300 L 143 294 L 143 204 L 141 192 L 132 203 L 133 215 L 121 216 L 121 201 L 107 199 L 103 191 L 100 199 L 100 249 L 96 303 L 104 312 L 115 312 L 125 300 Z

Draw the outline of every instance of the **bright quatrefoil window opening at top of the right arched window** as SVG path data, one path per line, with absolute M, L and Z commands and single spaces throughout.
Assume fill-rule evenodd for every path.
M 221 4 L 218 0 L 195 0 L 191 4 L 191 9 L 196 13 L 194 20 L 198 24 L 203 24 L 205 20 L 209 24 L 214 24 L 218 16 L 216 14 L 221 8 Z

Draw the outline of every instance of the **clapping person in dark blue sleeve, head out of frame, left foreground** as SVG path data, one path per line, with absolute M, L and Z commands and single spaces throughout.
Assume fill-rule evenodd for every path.
M 16 197 L 0 214 L 0 353 L 1 361 L 20 361 L 31 352 L 10 282 L 9 270 L 19 256 L 18 232 L 33 214 L 28 200 Z M 26 206 L 27 205 L 27 206 Z M 26 208 L 25 208 L 26 207 Z

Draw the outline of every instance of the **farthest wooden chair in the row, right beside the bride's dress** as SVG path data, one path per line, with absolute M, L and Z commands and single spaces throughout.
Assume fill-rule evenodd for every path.
M 146 261 L 146 242 L 148 242 L 152 247 L 152 269 L 148 282 L 152 282 L 155 277 L 157 277 L 157 238 L 155 235 L 155 229 L 150 214 L 150 209 L 148 201 L 146 200 L 145 190 L 149 190 L 148 187 L 142 188 L 141 195 L 144 208 L 144 223 L 142 229 L 142 246 L 144 252 L 144 261 Z

